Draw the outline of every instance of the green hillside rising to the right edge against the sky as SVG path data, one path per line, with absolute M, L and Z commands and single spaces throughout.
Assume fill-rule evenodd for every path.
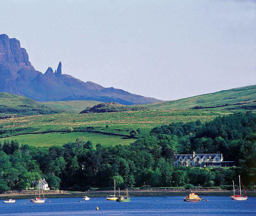
M 228 89 L 157 104 L 143 104 L 152 109 L 247 109 L 256 108 L 256 85 Z

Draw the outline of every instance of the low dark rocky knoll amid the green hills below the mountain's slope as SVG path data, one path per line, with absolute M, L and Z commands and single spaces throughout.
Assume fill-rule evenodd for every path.
M 99 112 L 124 112 L 124 111 L 136 111 L 136 110 L 149 110 L 147 107 L 143 106 L 125 106 L 122 104 L 108 102 L 97 104 L 93 107 L 87 107 L 85 110 L 81 111 L 83 113 L 99 113 Z

